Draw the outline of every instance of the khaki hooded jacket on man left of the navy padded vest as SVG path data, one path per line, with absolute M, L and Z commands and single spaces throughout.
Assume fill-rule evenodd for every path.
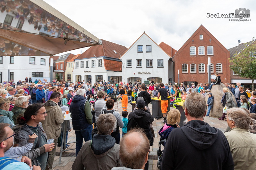
M 47 116 L 42 121 L 43 128 L 47 132 L 48 139 L 57 139 L 60 137 L 61 123 L 64 122 L 64 115 L 58 103 L 48 100 L 44 103 Z

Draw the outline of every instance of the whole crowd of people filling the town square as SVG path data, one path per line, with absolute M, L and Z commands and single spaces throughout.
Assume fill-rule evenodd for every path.
M 148 153 L 155 137 L 154 118 L 148 107 L 153 97 L 161 97 L 164 116 L 164 126 L 158 132 L 165 139 L 161 169 L 186 169 L 188 165 L 191 169 L 255 169 L 256 92 L 249 97 L 240 83 L 235 90 L 225 84 L 221 103 L 227 111 L 221 120 L 226 119 L 228 128 L 223 134 L 203 121 L 213 106 L 210 90 L 220 82 L 218 74 L 216 77 L 217 83 L 199 84 L 198 90 L 193 84 L 187 88 L 183 84 L 104 81 L 93 86 L 84 81 L 72 84 L 56 80 L 35 84 L 28 78 L 23 83 L 19 81 L 19 85 L 3 84 L 0 89 L 0 169 L 52 170 L 56 148 L 64 138 L 64 107 L 71 112 L 76 134 L 76 159 L 72 169 L 148 169 Z M 202 92 L 209 88 L 206 102 Z M 114 109 L 112 95 L 122 98 L 121 113 Z M 241 108 L 232 95 L 241 101 Z M 182 127 L 178 125 L 179 110 L 173 108 L 167 112 L 169 96 L 174 98 L 172 105 L 185 100 L 186 121 Z M 134 100 L 135 108 L 128 113 L 127 104 Z M 63 148 L 69 146 L 69 121 L 66 128 Z M 48 140 L 53 143 L 48 144 Z M 205 161 L 212 157 L 214 159 Z

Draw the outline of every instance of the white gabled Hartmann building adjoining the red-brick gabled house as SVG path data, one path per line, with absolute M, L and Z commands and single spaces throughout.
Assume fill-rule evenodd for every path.
M 145 32 L 121 56 L 122 81 L 128 83 L 168 83 L 173 81 L 172 56 L 177 50 L 161 42 L 156 44 Z

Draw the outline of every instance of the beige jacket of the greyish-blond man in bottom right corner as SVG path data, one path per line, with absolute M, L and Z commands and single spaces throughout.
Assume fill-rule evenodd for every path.
M 224 133 L 234 160 L 234 169 L 256 169 L 256 135 L 249 130 L 233 128 Z

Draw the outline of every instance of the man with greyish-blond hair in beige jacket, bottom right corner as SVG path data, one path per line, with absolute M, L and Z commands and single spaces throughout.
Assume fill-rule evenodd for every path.
M 256 135 L 248 129 L 252 117 L 241 108 L 227 110 L 227 123 L 231 128 L 224 133 L 234 160 L 234 169 L 256 169 Z

